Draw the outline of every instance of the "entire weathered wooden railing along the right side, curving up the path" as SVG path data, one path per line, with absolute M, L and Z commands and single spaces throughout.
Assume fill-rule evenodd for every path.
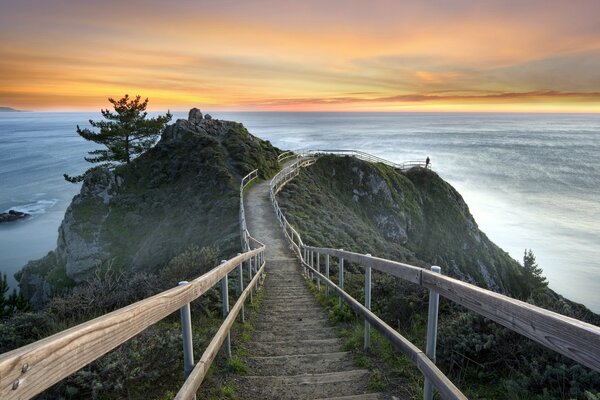
M 325 283 L 328 289 L 333 290 L 340 297 L 340 301 L 345 301 L 358 315 L 365 319 L 365 346 L 368 346 L 368 329 L 372 325 L 388 338 L 397 350 L 416 364 L 425 376 L 426 383 L 433 384 L 442 398 L 465 398 L 460 390 L 434 364 L 437 305 L 434 306 L 435 320 L 432 322 L 431 298 L 433 296 L 437 298 L 439 294 L 549 349 L 557 351 L 591 369 L 600 371 L 600 327 L 412 265 L 341 249 L 305 245 L 300 234 L 288 222 L 279 207 L 277 193 L 299 174 L 301 168 L 313 164 L 316 157 L 322 153 L 308 153 L 307 156 L 299 158 L 294 164 L 275 175 L 270 186 L 271 202 L 285 236 L 304 265 L 307 275 L 312 278 L 316 277 L 318 285 L 321 282 Z M 340 154 L 346 155 L 345 152 Z M 389 165 L 389 163 L 386 164 Z M 325 257 L 324 274 L 320 268 L 321 256 Z M 335 257 L 338 260 L 338 268 L 340 269 L 338 284 L 331 281 L 329 277 L 330 257 Z M 365 268 L 365 294 L 368 293 L 368 296 L 365 296 L 365 305 L 360 304 L 343 290 L 344 262 L 351 262 Z M 425 355 L 423 351 L 370 311 L 371 269 L 390 274 L 430 290 L 430 321 L 428 324 L 427 347 L 432 348 L 431 353 L 428 351 Z M 430 342 L 431 339 L 433 340 Z M 425 392 L 427 397 L 427 387 Z

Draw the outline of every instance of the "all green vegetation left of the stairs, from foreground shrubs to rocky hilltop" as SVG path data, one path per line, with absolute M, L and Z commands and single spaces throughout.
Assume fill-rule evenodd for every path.
M 279 153 L 238 123 L 179 120 L 129 163 L 89 170 L 58 248 L 18 274 L 36 309 L 2 319 L 0 353 L 194 279 L 235 255 L 240 178 L 255 168 L 273 175 Z M 232 304 L 235 288 L 231 283 Z M 259 303 L 260 295 L 246 307 L 247 318 Z M 198 359 L 222 322 L 218 287 L 192 303 L 192 316 Z M 234 326 L 235 357 L 217 358 L 203 383 L 206 397 L 237 397 L 222 376 L 244 373 L 251 335 L 250 324 Z M 39 398 L 172 398 L 183 383 L 181 352 L 174 313 Z

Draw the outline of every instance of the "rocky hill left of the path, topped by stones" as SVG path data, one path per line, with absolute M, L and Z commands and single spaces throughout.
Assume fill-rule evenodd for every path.
M 21 290 L 40 304 L 107 263 L 155 270 L 190 245 L 235 254 L 240 179 L 255 168 L 272 175 L 279 153 L 239 123 L 191 110 L 130 164 L 86 174 L 56 250 L 22 269 Z

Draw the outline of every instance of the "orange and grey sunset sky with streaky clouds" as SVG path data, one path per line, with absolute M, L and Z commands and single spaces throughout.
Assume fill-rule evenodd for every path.
M 0 106 L 600 112 L 599 21 L 598 0 L 0 0 Z

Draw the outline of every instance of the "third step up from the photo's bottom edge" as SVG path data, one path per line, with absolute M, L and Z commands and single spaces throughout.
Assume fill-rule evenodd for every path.
M 340 351 L 340 339 L 303 339 L 280 342 L 250 342 L 248 352 L 255 357 L 292 356 L 335 353 Z

